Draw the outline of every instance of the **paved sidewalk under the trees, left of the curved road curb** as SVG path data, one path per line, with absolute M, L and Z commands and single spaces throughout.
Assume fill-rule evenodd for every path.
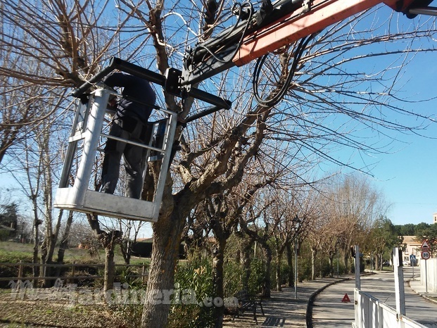
M 262 301 L 261 310 L 257 308 L 258 325 L 253 320 L 253 313 L 250 311 L 236 317 L 224 317 L 223 327 L 307 327 L 306 314 L 308 300 L 316 291 L 325 286 L 338 282 L 341 279 L 324 278 L 298 284 L 297 299 L 294 298 L 294 288 L 284 287 L 282 291 L 272 291 L 272 297 Z

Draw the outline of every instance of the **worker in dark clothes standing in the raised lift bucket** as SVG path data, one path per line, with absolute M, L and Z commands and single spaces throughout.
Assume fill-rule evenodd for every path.
M 122 99 L 119 99 L 118 103 L 110 103 L 110 106 L 115 105 L 116 112 L 109 134 L 144 144 L 148 133 L 148 118 L 156 101 L 156 94 L 150 83 L 141 77 L 121 72 L 108 75 L 103 83 L 108 87 L 123 88 Z M 101 191 L 107 194 L 114 193 L 123 155 L 127 179 L 125 196 L 139 199 L 143 187 L 144 153 L 144 149 L 140 146 L 108 138 L 102 166 Z

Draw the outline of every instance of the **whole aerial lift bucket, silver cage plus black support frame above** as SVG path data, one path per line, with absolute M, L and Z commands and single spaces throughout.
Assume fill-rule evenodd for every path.
M 99 82 L 113 70 L 121 70 L 131 75 L 144 78 L 151 83 L 163 87 L 169 94 L 177 97 L 191 96 L 206 103 L 213 105 L 206 111 L 196 113 L 184 120 L 183 124 L 197 120 L 198 118 L 213 113 L 222 108 L 229 109 L 231 102 L 213 94 L 208 94 L 195 87 L 182 88 L 180 86 L 180 76 L 182 72 L 170 68 L 165 75 L 160 75 L 146 68 L 141 68 L 120 58 L 111 58 L 110 64 L 103 68 L 99 73 L 84 82 L 79 88 L 75 89 L 72 96 L 84 99 L 81 100 L 75 113 L 72 133 L 68 140 L 68 149 L 65 155 L 65 163 L 54 206 L 65 210 L 75 210 L 83 213 L 96 215 L 106 215 L 108 217 L 119 217 L 129 220 L 142 220 L 156 222 L 160 211 L 161 201 L 165 187 L 165 179 L 172 161 L 174 153 L 172 146 L 175 139 L 175 131 L 178 124 L 177 113 L 167 109 L 152 106 L 157 113 L 160 113 L 159 120 L 150 122 L 151 138 L 146 144 L 120 139 L 108 135 L 108 125 L 104 126 L 105 115 L 108 113 L 108 99 L 110 94 L 116 94 L 113 90 L 104 87 L 97 88 L 89 93 L 91 87 L 96 87 Z M 131 99 L 134 100 L 134 99 Z M 152 115 L 152 117 L 155 117 Z M 159 167 L 158 182 L 151 182 L 153 192 L 147 194 L 147 200 L 139 200 L 124 197 L 121 194 L 105 194 L 99 192 L 96 185 L 100 178 L 99 163 L 96 158 L 102 158 L 99 153 L 102 151 L 104 142 L 108 139 L 117 139 L 141 146 L 146 151 L 146 165 L 144 165 L 144 175 L 148 170 L 147 163 L 156 162 Z M 154 168 L 155 169 L 155 168 Z M 121 175 L 120 175 L 121 176 Z M 151 195 L 153 194 L 153 195 Z

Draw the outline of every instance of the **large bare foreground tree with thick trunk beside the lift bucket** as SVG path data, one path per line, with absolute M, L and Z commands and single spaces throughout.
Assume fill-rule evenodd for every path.
M 27 27 L 23 31 L 34 38 L 30 45 L 18 42 L 11 49 L 31 49 L 32 53 L 23 53 L 26 58 L 52 68 L 51 74 L 44 77 L 29 75 L 20 69 L 13 70 L 13 76 L 49 87 L 78 85 L 96 72 L 105 53 L 117 54 L 120 44 L 120 48 L 127 49 L 127 58 L 141 61 L 144 67 L 156 64 L 158 71 L 164 73 L 170 65 L 180 66 L 186 44 L 213 37 L 217 28 L 226 25 L 231 7 L 227 1 L 190 3 L 189 7 L 183 1 L 165 3 L 162 0 L 144 1 L 138 6 L 123 0 L 118 4 L 118 11 L 115 11 L 120 15 L 116 20 L 118 25 L 113 26 L 114 34 L 109 35 L 99 28 L 106 17 L 103 11 L 93 10 L 97 6 L 93 6 L 92 1 L 84 6 L 75 1 L 69 2 L 68 6 L 49 1 L 42 5 L 43 8 L 32 8 L 34 15 L 27 15 L 22 9 L 32 4 L 16 6 L 12 0 L 4 1 L 2 19 L 7 18 L 8 24 L 15 28 Z M 314 36 L 294 65 L 293 53 L 298 49 L 297 44 L 284 49 L 280 56 L 270 55 L 273 62 L 269 65 L 266 61 L 267 65 L 261 68 L 260 76 L 264 80 L 258 81 L 258 88 L 255 88 L 265 99 L 279 92 L 286 74 L 296 67 L 293 83 L 286 86 L 284 100 L 277 106 L 259 106 L 248 96 L 252 87 L 248 80 L 250 65 L 229 70 L 205 83 L 205 88 L 215 94 L 236 99 L 234 111 L 217 113 L 191 123 L 185 130 L 179 127 L 177 131 L 176 138 L 181 141 L 182 150 L 175 157 L 172 175 L 167 178 L 160 217 L 153 225 L 144 327 L 165 327 L 170 304 L 161 304 L 159 293 L 174 286 L 177 248 L 186 217 L 205 198 L 222 194 L 239 184 L 246 165 L 259 156 L 263 143 L 281 139 L 296 147 L 296 152 L 291 153 L 285 163 L 280 163 L 283 167 L 288 167 L 295 158 L 302 162 L 310 158 L 308 162 L 312 168 L 315 154 L 319 160 L 367 170 L 359 163 L 331 156 L 329 151 L 338 146 L 349 146 L 358 153 L 386 151 L 384 144 L 374 143 L 372 139 L 362 141 L 360 133 L 372 134 L 377 130 L 379 135 L 376 137 L 390 138 L 393 137 L 391 132 L 409 132 L 421 128 L 421 123 L 430 122 L 426 115 L 412 113 L 391 100 L 398 100 L 396 82 L 411 59 L 410 53 L 435 50 L 433 44 L 417 43 L 420 37 L 433 37 L 436 32 L 433 22 L 421 20 L 410 29 L 397 30 L 401 26 L 397 24 L 397 15 L 384 24 L 362 23 L 369 15 L 372 11 Z M 128 24 L 136 26 L 137 33 L 132 39 L 123 39 L 120 33 Z M 103 45 L 95 42 L 102 34 L 106 35 Z M 372 38 L 369 37 L 371 34 Z M 112 46 L 115 41 L 117 47 Z M 388 42 L 393 47 L 387 50 Z M 384 51 L 369 51 L 369 47 L 376 49 L 378 46 L 384 46 Z M 379 66 L 373 71 L 360 69 L 363 65 L 359 63 L 381 56 L 395 56 L 392 57 L 393 65 L 374 61 Z M 10 73 L 11 69 L 0 70 L 1 75 Z M 262 84 L 268 77 L 276 79 Z M 374 85 L 378 88 L 372 88 Z M 158 102 L 180 113 L 181 120 L 203 106 L 193 99 L 179 103 L 166 92 Z M 410 125 L 414 121 L 410 120 L 412 117 L 420 120 L 417 126 Z M 94 220 L 90 222 L 94 225 Z

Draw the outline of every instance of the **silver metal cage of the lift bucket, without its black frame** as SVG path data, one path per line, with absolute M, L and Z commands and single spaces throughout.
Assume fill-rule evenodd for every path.
M 152 131 L 148 144 L 139 144 L 112 137 L 105 133 L 104 127 L 110 94 L 114 94 L 114 92 L 108 89 L 96 89 L 91 94 L 88 103 L 80 104 L 78 107 L 54 205 L 56 208 L 66 210 L 156 222 L 163 198 L 165 178 L 170 165 L 177 114 L 172 111 L 159 110 L 166 118 L 150 124 Z M 121 96 L 120 94 L 116 95 Z M 101 145 L 108 138 L 125 141 L 144 149 L 147 159 L 144 175 L 150 160 L 156 160 L 158 164 L 160 163 L 158 183 L 151 201 L 117 194 L 105 194 L 95 190 L 92 184 L 96 179 L 99 179 L 99 165 L 96 164 L 96 158 L 102 157 L 99 156 L 99 152 L 102 151 Z M 158 145 L 153 142 L 156 139 L 160 141 Z M 76 163 L 77 160 L 79 160 L 78 163 Z

